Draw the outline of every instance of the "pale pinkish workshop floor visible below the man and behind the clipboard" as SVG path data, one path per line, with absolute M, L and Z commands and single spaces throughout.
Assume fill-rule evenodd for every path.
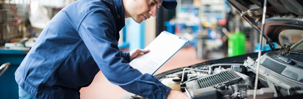
M 196 50 L 194 47 L 185 46 L 157 70 L 156 74 L 204 61 L 206 60 L 196 58 Z M 100 71 L 90 86 L 80 90 L 80 97 L 82 99 L 120 99 L 125 92 L 124 89 L 109 82 Z

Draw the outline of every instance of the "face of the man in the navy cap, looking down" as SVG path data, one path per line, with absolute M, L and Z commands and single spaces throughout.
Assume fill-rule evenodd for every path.
M 157 8 L 162 4 L 162 0 L 126 0 L 126 17 L 131 17 L 137 23 L 142 23 L 150 17 L 155 17 Z

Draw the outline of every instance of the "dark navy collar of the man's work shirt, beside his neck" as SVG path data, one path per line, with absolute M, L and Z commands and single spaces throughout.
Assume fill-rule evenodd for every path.
M 125 26 L 124 6 L 122 1 L 123 0 L 114 0 L 114 2 L 116 2 L 114 4 L 117 7 L 117 13 L 120 16 L 120 18 L 117 19 L 117 28 L 123 28 Z

